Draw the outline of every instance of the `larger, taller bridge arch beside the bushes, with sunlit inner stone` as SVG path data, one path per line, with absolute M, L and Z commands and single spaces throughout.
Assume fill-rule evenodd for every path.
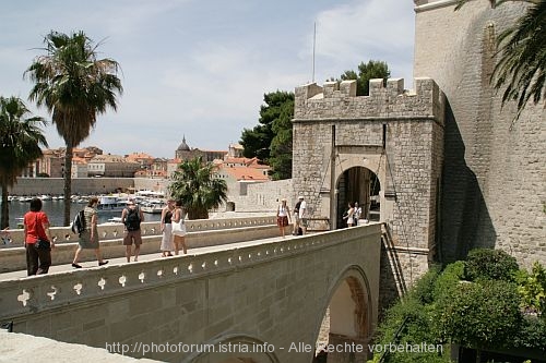
M 366 361 L 367 344 L 372 332 L 372 300 L 366 273 L 358 265 L 347 266 L 335 279 L 328 290 L 325 305 L 321 315 L 317 317 L 313 334 L 318 351 L 327 341 L 320 341 L 321 329 L 324 329 L 324 317 L 329 313 L 328 344 L 360 344 L 361 353 L 341 350 L 330 352 L 330 362 L 360 362 Z M 322 331 L 323 332 L 323 331 Z

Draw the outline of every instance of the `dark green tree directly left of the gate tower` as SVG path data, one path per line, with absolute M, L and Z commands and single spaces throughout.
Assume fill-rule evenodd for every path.
M 263 95 L 263 101 L 259 124 L 242 131 L 244 156 L 270 165 L 273 179 L 290 178 L 294 93 L 276 90 Z

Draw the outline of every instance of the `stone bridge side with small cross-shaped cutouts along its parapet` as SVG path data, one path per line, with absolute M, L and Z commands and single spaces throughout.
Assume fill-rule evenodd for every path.
M 381 227 L 4 280 L 0 322 L 135 358 L 310 363 L 328 310 L 328 361 L 363 361 L 378 315 Z

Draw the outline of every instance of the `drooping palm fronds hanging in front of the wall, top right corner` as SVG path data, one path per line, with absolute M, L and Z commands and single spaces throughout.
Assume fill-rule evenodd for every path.
M 455 10 L 467 1 L 460 0 Z M 529 100 L 537 105 L 546 99 L 546 0 L 489 0 L 492 8 L 508 1 L 531 3 L 525 14 L 497 38 L 500 58 L 491 76 L 496 89 L 506 86 L 502 106 L 518 100 L 515 121 Z

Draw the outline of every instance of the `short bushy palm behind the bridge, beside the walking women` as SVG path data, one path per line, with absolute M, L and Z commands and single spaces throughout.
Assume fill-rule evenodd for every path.
M 226 181 L 214 178 L 214 165 L 195 157 L 182 161 L 173 174 L 170 195 L 182 201 L 190 219 L 207 219 L 209 209 L 227 202 Z

